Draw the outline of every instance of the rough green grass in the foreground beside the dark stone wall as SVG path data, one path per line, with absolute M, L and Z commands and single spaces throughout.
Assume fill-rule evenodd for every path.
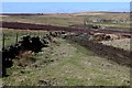
M 3 32 L 12 34 L 9 30 Z M 3 84 L 43 86 L 48 81 L 52 86 L 130 86 L 129 67 L 100 57 L 76 43 L 59 37 L 53 41 L 40 53 L 14 59 L 13 66 L 8 68 L 9 76 L 2 78 Z M 19 63 L 28 66 L 18 66 Z

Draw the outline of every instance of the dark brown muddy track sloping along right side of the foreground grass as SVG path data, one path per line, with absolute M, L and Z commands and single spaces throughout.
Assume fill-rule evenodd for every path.
M 67 36 L 67 41 L 69 43 L 77 43 L 78 45 L 81 45 L 82 47 L 87 48 L 88 51 L 92 51 L 98 56 L 105 57 L 109 61 L 112 61 L 119 65 L 132 67 L 131 64 L 131 51 L 125 51 L 123 48 L 118 48 L 109 45 L 105 45 L 102 43 L 92 42 L 82 40 L 76 36 Z

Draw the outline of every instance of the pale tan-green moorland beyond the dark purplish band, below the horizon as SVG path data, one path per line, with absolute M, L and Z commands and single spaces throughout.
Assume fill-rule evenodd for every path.
M 74 24 L 84 24 L 84 20 L 90 19 L 108 19 L 108 20 L 127 20 L 130 19 L 129 13 L 106 13 L 106 12 L 79 12 L 79 13 L 54 13 L 44 15 L 11 15 L 3 16 L 3 21 L 36 23 L 36 24 L 52 24 L 59 26 L 69 26 Z M 107 24 L 105 24 L 107 25 Z M 110 25 L 110 23 L 109 23 Z M 111 24 L 112 25 L 112 24 Z M 116 24 L 114 24 L 116 26 Z M 121 25 L 117 25 L 121 26 Z

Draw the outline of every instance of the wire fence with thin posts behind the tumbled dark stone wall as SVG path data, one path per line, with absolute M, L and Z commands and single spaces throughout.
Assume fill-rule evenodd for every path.
M 29 31 L 29 30 L 26 30 L 26 31 L 4 30 L 1 34 L 1 36 L 2 36 L 1 47 L 4 48 L 7 46 L 19 43 L 19 41 L 22 40 L 23 35 L 30 35 L 31 37 L 33 37 L 33 36 L 43 37 L 43 35 L 45 35 L 45 32 L 43 32 L 43 31 Z

